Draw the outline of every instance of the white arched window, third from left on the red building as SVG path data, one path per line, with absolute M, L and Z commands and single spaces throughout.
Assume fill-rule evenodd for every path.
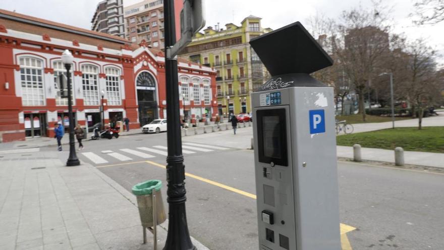
M 98 67 L 90 64 L 82 65 L 83 103 L 85 106 L 99 105 Z

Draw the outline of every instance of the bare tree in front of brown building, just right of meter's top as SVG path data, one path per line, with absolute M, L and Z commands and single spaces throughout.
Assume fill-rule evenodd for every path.
M 382 68 L 390 54 L 390 44 L 398 37 L 390 35 L 388 14 L 380 2 L 372 9 L 362 7 L 344 11 L 342 22 L 332 36 L 332 49 L 341 62 L 359 96 L 359 113 L 365 121 L 364 90 L 375 75 L 375 68 Z

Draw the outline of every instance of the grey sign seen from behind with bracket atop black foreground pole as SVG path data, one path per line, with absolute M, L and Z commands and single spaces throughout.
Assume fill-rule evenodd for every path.
M 179 0 L 175 1 L 175 4 Z M 180 6 L 180 5 L 179 5 Z M 177 6 L 175 6 L 177 8 Z M 184 0 L 183 9 L 180 12 L 180 39 L 173 47 L 167 48 L 167 58 L 174 58 L 192 40 L 194 34 L 205 26 L 204 0 Z M 176 15 L 176 33 L 179 27 Z

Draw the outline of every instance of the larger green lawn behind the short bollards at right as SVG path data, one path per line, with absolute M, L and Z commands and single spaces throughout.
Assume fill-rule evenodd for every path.
M 395 149 L 400 146 L 405 151 L 444 153 L 444 127 L 383 129 L 365 133 L 337 136 L 337 144 L 362 147 Z

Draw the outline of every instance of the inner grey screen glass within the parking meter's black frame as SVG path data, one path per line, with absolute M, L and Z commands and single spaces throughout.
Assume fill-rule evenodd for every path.
M 279 116 L 262 117 L 264 156 L 282 158 L 281 154 L 281 126 Z

